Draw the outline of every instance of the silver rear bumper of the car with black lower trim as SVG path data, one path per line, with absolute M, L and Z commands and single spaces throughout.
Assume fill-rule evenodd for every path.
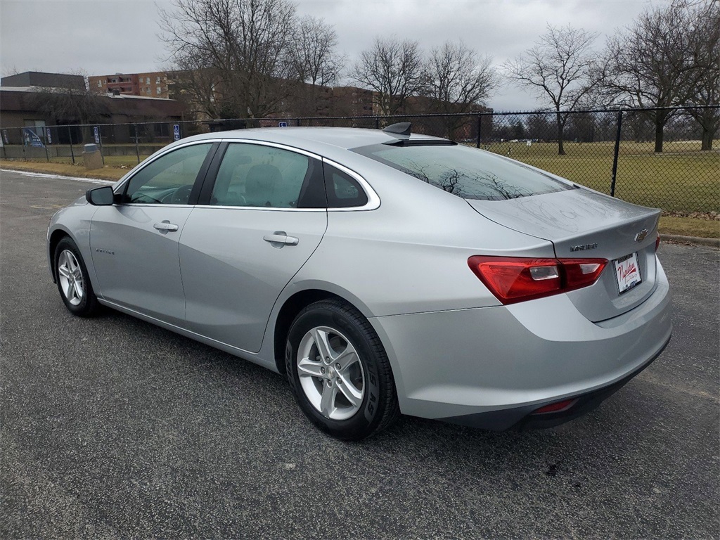
M 516 305 L 371 319 L 402 413 L 505 430 L 588 412 L 647 367 L 672 333 L 667 278 L 633 310 L 592 323 L 564 295 Z M 559 413 L 530 415 L 575 399 Z

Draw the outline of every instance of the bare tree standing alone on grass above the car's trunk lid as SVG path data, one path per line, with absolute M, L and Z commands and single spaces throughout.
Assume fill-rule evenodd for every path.
M 518 86 L 534 89 L 541 98 L 552 103 L 557 122 L 557 153 L 565 150 L 562 135 L 567 114 L 575 110 L 593 88 L 592 47 L 597 34 L 585 30 L 548 25 L 535 45 L 523 55 L 503 65 L 508 78 Z

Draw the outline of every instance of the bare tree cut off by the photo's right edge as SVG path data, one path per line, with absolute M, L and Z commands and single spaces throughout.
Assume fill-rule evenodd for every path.
M 706 1 L 694 9 L 693 58 L 699 70 L 688 104 L 720 104 L 720 2 Z M 703 130 L 701 149 L 712 150 L 720 129 L 720 109 L 688 109 Z

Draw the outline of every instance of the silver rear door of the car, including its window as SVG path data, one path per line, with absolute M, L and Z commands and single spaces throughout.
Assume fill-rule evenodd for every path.
M 282 289 L 328 225 L 322 163 L 258 142 L 227 143 L 180 240 L 188 327 L 257 352 Z

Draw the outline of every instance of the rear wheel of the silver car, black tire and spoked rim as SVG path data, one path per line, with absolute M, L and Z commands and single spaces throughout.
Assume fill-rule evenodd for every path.
M 400 416 L 382 343 L 346 302 L 322 300 L 305 307 L 290 326 L 285 362 L 300 409 L 333 437 L 359 441 Z

